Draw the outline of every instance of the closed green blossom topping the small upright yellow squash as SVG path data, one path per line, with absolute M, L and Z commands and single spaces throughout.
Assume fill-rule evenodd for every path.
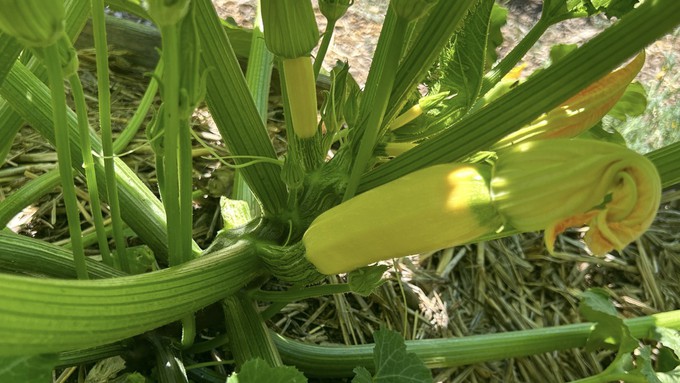
M 309 0 L 262 0 L 262 24 L 267 48 L 279 57 L 309 56 L 319 40 Z

